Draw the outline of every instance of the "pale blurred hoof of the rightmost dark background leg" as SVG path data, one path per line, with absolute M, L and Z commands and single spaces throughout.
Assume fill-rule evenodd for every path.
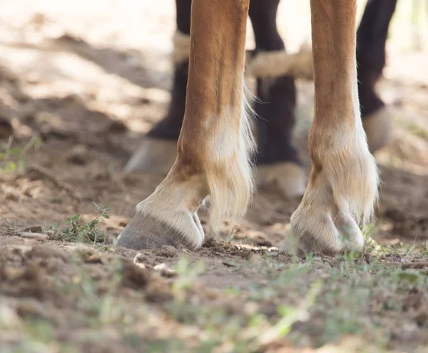
M 371 153 L 387 145 L 391 137 L 392 115 L 387 107 L 382 107 L 362 119 Z

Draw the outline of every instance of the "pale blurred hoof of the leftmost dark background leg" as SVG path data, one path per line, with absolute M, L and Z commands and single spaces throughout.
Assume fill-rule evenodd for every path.
M 177 156 L 177 141 L 149 138 L 146 136 L 125 168 L 125 173 L 143 171 L 146 173 L 168 174 Z

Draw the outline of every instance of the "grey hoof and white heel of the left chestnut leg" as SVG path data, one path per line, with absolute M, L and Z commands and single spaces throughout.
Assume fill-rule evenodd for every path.
M 137 212 L 118 236 L 116 245 L 134 250 L 160 249 L 163 245 L 191 250 L 201 247 L 204 235 L 198 215 L 183 212 L 175 220 L 178 222 L 170 226 L 151 215 Z

